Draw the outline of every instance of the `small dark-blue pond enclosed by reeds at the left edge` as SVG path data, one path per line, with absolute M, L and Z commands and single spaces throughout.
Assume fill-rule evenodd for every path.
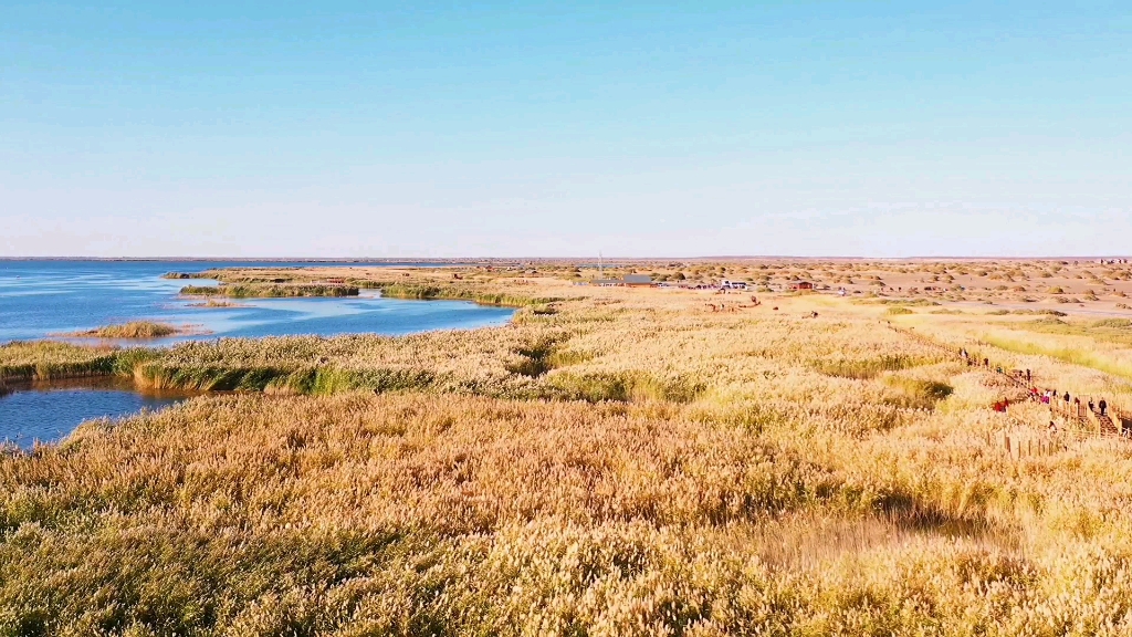
M 36 440 L 57 442 L 84 421 L 160 409 L 188 398 L 139 393 L 129 381 L 98 379 L 18 385 L 0 398 L 0 442 L 31 449 Z

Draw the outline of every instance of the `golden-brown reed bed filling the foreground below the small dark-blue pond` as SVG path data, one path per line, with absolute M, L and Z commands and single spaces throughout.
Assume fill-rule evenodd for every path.
M 830 449 L 788 417 L 754 434 L 691 409 L 252 394 L 93 422 L 0 459 L 0 627 L 1127 628 L 1126 523 L 1089 515 L 1126 496 L 1105 475 L 1126 456 L 1019 474 L 915 431 L 944 423 Z M 1075 586 L 1082 572 L 1103 584 Z

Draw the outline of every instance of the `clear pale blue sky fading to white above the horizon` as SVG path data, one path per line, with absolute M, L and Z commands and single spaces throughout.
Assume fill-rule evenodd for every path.
M 1126 1 L 0 0 L 0 256 L 1132 255 L 1130 148 Z

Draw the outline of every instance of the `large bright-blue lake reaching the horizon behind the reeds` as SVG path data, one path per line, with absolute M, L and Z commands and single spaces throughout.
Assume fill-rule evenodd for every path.
M 112 323 L 153 320 L 191 325 L 197 336 L 333 336 L 355 332 L 406 334 L 505 323 L 512 311 L 464 301 L 380 298 L 241 299 L 239 307 L 192 307 L 178 291 L 200 281 L 162 279 L 165 272 L 197 272 L 225 266 L 310 264 L 231 262 L 0 261 L 0 342 L 42 339 Z M 351 264 L 361 265 L 361 264 Z M 374 265 L 391 265 L 387 263 Z M 363 292 L 365 294 L 365 292 Z

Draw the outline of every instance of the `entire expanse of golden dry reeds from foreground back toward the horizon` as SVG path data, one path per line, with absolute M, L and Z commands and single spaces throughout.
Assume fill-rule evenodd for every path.
M 1034 287 L 1039 265 L 981 277 Z M 528 299 L 506 328 L 0 347 L 5 368 L 247 391 L 0 456 L 0 635 L 1132 630 L 1132 450 L 1011 460 L 987 434 L 1044 414 L 990 411 L 1014 390 L 954 356 L 1122 396 L 1116 374 L 985 337 L 1100 351 L 1123 324 L 824 295 L 711 312 L 705 292 L 529 270 L 286 273 Z

